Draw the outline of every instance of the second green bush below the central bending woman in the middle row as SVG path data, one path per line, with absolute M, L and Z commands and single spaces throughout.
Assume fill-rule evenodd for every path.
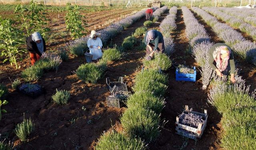
M 154 69 L 143 70 L 136 75 L 135 83 L 142 80 L 154 80 L 162 84 L 168 85 L 168 75 L 161 74 L 159 71 Z

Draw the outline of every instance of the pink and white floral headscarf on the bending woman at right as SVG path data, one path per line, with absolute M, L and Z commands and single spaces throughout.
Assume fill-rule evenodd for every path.
M 216 62 L 216 67 L 218 68 L 218 70 L 220 70 L 220 72 L 226 70 L 228 66 L 228 60 L 230 58 L 230 53 L 231 50 L 227 46 L 217 47 L 212 53 L 213 58 Z M 220 57 L 221 54 L 227 54 L 226 58 L 222 59 Z

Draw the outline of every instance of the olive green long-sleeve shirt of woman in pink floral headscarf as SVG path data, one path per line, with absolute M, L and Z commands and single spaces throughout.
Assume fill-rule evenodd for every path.
M 214 65 L 214 61 L 215 61 L 215 60 L 214 60 L 214 58 L 213 58 L 212 53 L 214 52 L 214 50 L 216 50 L 217 47 L 220 47 L 220 46 L 227 46 L 227 47 L 229 48 L 229 46 L 226 45 L 226 44 L 224 44 L 224 43 L 216 43 L 216 44 L 214 44 L 214 45 L 210 48 L 210 50 L 209 50 L 209 52 L 208 52 L 208 56 L 210 57 L 210 58 L 209 58 L 209 64 L 210 64 L 210 66 L 211 66 L 211 68 L 212 68 L 213 70 L 216 70 L 217 67 Z M 230 48 L 230 49 L 231 49 L 231 48 Z M 234 74 L 236 68 L 235 68 L 234 55 L 233 55 L 232 50 L 231 50 L 231 53 L 230 53 L 229 64 L 230 64 L 230 73 L 231 73 L 231 74 Z

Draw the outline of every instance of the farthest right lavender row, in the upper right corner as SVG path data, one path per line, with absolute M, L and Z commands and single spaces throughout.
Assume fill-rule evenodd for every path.
M 219 10 L 256 26 L 256 9 L 219 8 Z

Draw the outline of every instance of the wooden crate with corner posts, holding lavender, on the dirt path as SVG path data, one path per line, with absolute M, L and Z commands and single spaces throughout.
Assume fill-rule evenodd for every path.
M 188 106 L 186 105 L 185 106 L 185 110 L 182 112 L 188 112 Z M 208 119 L 208 114 L 207 114 L 207 110 L 204 110 L 204 114 L 202 113 L 199 113 L 199 112 L 194 112 L 192 111 L 192 113 L 194 114 L 198 114 L 202 117 L 204 117 L 204 124 L 198 124 L 198 127 L 197 128 L 193 128 L 191 126 L 186 126 L 184 124 L 180 124 L 179 123 L 179 117 L 177 116 L 176 117 L 176 122 L 175 122 L 175 126 L 176 126 L 176 130 L 177 130 L 177 134 L 180 134 L 182 136 L 186 136 L 188 138 L 192 138 L 194 140 L 198 140 L 201 138 L 203 132 L 204 132 L 204 129 L 206 127 L 206 123 L 207 123 L 207 119 Z M 183 129 L 183 130 L 181 130 Z

